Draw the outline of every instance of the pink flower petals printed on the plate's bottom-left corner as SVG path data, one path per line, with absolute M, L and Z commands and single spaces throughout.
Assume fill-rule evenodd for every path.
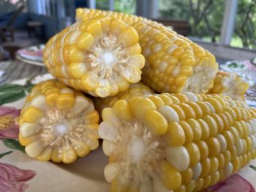
M 25 182 L 34 178 L 34 175 L 33 170 L 20 170 L 0 162 L 0 191 L 23 192 L 29 187 Z

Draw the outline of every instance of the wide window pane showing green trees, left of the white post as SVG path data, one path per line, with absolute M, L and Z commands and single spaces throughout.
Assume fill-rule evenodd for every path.
M 158 0 L 158 17 L 186 20 L 190 36 L 206 42 L 219 42 L 225 0 Z

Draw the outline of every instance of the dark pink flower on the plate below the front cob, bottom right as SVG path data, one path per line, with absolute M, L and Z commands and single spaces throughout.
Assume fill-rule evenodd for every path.
M 203 190 L 207 192 L 255 192 L 254 187 L 239 174 L 233 174 L 222 182 Z

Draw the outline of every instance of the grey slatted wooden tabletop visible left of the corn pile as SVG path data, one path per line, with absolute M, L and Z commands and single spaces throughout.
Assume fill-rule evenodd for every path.
M 0 84 L 3 82 L 13 82 L 21 78 L 32 78 L 47 73 L 44 66 L 30 65 L 18 60 L 0 62 L 0 70 L 5 72 L 5 74 L 0 77 Z

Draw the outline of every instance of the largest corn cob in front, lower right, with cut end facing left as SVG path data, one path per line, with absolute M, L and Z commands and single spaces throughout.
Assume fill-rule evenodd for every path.
M 223 95 L 118 100 L 102 119 L 112 192 L 198 191 L 256 157 L 256 110 Z

